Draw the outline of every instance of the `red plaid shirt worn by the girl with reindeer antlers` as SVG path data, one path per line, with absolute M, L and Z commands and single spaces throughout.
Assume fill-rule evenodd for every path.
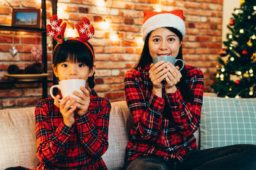
M 36 107 L 36 154 L 41 161 L 36 169 L 107 169 L 101 156 L 108 147 L 110 101 L 90 95 L 87 114 L 75 113 L 71 128 L 53 98 Z

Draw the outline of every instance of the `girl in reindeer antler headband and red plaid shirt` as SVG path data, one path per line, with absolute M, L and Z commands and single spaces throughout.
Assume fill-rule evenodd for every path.
M 65 26 L 60 26 L 57 16 L 51 18 L 57 29 L 48 26 L 48 33 L 60 42 L 53 51 L 53 72 L 59 81 L 84 79 L 93 89 L 95 55 L 87 40 L 94 30 L 86 18 L 83 21 L 76 25 L 80 39 L 66 39 L 60 38 L 63 30 L 58 31 Z M 101 156 L 108 147 L 110 101 L 83 86 L 80 89 L 83 93 L 73 91 L 79 98 L 67 96 L 59 101 L 62 97 L 58 94 L 36 106 L 36 154 L 40 160 L 36 169 L 107 169 Z

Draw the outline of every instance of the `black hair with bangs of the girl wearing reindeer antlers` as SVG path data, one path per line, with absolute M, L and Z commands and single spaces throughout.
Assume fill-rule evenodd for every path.
M 92 52 L 94 52 L 90 42 L 85 43 L 87 43 L 87 45 L 91 47 Z M 89 47 L 87 47 L 87 45 L 78 40 L 66 40 L 62 44 L 57 45 L 53 52 L 53 65 L 57 67 L 57 64 L 69 60 L 70 62 L 83 63 L 87 65 L 87 67 L 89 67 L 91 70 L 94 66 L 93 56 L 92 52 L 90 51 Z M 93 88 L 95 87 L 94 79 L 95 73 L 92 75 L 92 77 L 88 77 L 87 79 L 88 85 L 90 89 L 92 89 L 92 93 L 95 93 L 95 91 L 93 90 Z

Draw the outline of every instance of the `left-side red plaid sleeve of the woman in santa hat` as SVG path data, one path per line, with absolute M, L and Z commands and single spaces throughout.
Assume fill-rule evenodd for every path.
M 160 130 L 165 101 L 151 92 L 147 101 L 136 73 L 133 69 L 124 78 L 127 105 L 132 113 L 137 135 L 144 140 L 155 140 Z

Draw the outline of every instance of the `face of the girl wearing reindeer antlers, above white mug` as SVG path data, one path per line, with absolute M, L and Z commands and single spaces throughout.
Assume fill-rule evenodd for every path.
M 66 61 L 57 64 L 57 67 L 53 65 L 53 72 L 60 81 L 65 79 L 84 79 L 87 81 L 88 77 L 92 77 L 95 72 L 95 66 L 90 69 L 83 63 Z

